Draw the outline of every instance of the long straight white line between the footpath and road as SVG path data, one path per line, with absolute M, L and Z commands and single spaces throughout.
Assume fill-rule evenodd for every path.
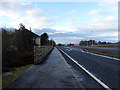
M 59 48 L 60 49 L 60 48 Z M 61 49 L 60 49 L 61 50 Z M 112 90 L 107 85 L 105 85 L 102 81 L 100 81 L 97 77 L 95 77 L 93 74 L 91 74 L 87 69 L 85 69 L 83 66 L 81 66 L 76 60 L 71 58 L 68 54 L 66 54 L 63 50 L 61 50 L 66 56 L 68 56 L 75 64 L 77 64 L 80 68 L 82 68 L 88 75 L 90 75 L 94 80 L 96 80 L 100 85 L 102 85 L 107 90 Z

